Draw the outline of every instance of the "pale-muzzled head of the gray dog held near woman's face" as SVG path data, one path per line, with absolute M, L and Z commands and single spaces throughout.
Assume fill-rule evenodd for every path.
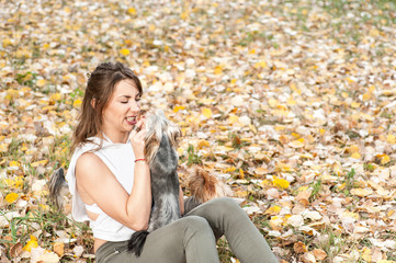
M 170 122 L 161 110 L 147 114 L 146 130 L 145 157 L 148 163 L 151 163 L 156 157 L 162 136 L 168 136 L 172 148 L 176 150 L 182 135 L 180 128 Z

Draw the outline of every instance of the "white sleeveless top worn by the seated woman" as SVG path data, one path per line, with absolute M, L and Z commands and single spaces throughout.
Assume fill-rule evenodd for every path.
M 97 206 L 95 213 L 99 214 L 97 220 L 91 220 L 86 211 L 86 204 L 80 198 L 76 190 L 76 162 L 77 159 L 84 152 L 92 151 L 106 164 L 109 170 L 118 180 L 125 191 L 131 194 L 132 186 L 134 184 L 134 167 L 135 156 L 129 142 L 126 144 L 113 144 L 109 138 L 100 139 L 98 137 L 89 138 L 92 142 L 86 142 L 80 147 L 77 147 L 66 174 L 66 180 L 69 184 L 69 191 L 72 195 L 72 209 L 71 215 L 76 221 L 90 221 L 90 227 L 94 238 L 108 240 L 108 241 L 125 241 L 131 238 L 131 235 L 135 231 L 131 228 L 123 226 L 121 222 L 114 220 L 108 216 L 99 206 Z M 102 148 L 98 151 L 98 147 L 102 145 Z M 91 209 L 89 209 L 91 210 Z

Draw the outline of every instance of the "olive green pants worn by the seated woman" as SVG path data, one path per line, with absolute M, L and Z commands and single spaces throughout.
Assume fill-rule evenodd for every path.
M 278 262 L 245 210 L 231 198 L 216 198 L 150 232 L 139 258 L 127 252 L 127 241 L 106 242 L 97 251 L 97 263 L 215 263 L 216 237 L 222 235 L 242 263 Z

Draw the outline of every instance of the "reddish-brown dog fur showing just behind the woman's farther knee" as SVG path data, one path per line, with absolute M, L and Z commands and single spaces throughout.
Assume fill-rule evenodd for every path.
M 214 174 L 196 167 L 188 178 L 191 196 L 184 202 L 184 214 L 207 201 L 229 196 L 231 190 Z

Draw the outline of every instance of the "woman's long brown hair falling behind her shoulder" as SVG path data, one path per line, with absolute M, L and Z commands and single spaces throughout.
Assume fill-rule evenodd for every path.
M 139 78 L 122 62 L 100 64 L 89 77 L 86 93 L 81 104 L 81 114 L 75 129 L 71 152 L 80 144 L 87 142 L 89 137 L 95 136 L 102 127 L 102 113 L 111 99 L 115 85 L 124 79 L 134 81 L 143 93 Z

